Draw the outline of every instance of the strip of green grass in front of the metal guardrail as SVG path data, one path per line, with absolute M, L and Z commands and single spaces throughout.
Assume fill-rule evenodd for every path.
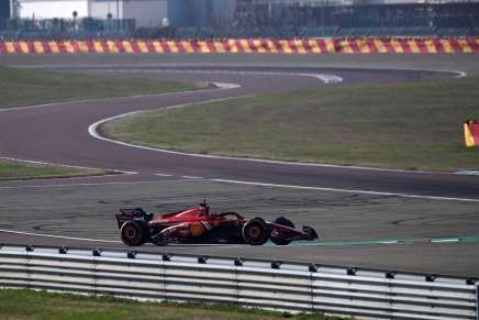
M 32 290 L 0 290 L 0 319 L 315 319 L 336 317 L 242 309 L 227 305 L 137 302 L 112 297 L 87 297 Z

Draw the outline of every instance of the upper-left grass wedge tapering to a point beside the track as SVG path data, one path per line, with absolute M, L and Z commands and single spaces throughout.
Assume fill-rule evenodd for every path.
M 198 89 L 177 81 L 112 78 L 0 66 L 0 108 Z

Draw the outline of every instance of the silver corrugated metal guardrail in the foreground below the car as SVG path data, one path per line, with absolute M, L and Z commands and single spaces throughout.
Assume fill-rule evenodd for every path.
M 358 319 L 479 319 L 471 278 L 166 253 L 1 245 L 0 287 Z

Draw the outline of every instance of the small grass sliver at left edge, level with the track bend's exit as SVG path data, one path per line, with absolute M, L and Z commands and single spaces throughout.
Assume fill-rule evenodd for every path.
M 86 169 L 0 159 L 0 180 L 64 178 L 104 175 L 101 169 Z

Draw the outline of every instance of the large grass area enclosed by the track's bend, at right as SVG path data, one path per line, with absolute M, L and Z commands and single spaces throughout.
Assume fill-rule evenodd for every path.
M 479 118 L 479 78 L 265 95 L 118 119 L 130 143 L 201 154 L 399 169 L 479 169 L 463 122 Z

